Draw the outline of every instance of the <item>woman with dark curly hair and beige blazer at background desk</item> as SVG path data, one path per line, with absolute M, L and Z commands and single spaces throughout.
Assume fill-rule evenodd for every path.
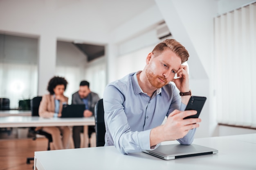
M 47 90 L 50 94 L 42 97 L 39 105 L 39 116 L 43 118 L 61 117 L 63 105 L 68 98 L 64 96 L 67 81 L 64 77 L 54 76 L 48 83 Z M 43 131 L 52 135 L 54 149 L 67 149 L 71 137 L 71 130 L 67 126 L 43 127 Z M 62 137 L 61 137 L 62 134 Z

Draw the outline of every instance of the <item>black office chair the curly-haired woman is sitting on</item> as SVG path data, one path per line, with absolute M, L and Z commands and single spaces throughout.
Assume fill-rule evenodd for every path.
M 39 116 L 38 109 L 39 109 L 39 105 L 40 105 L 41 100 L 42 100 L 41 96 L 34 97 L 31 100 L 31 115 L 32 116 Z M 43 131 L 43 130 L 37 130 L 36 131 L 35 129 L 36 129 L 36 127 L 31 127 L 29 129 L 29 133 L 34 133 L 35 134 L 32 139 L 36 140 L 36 134 L 45 136 L 48 139 L 47 150 L 50 150 L 50 143 L 52 142 L 52 135 Z M 29 164 L 31 160 L 34 160 L 34 157 L 27 158 L 27 164 Z

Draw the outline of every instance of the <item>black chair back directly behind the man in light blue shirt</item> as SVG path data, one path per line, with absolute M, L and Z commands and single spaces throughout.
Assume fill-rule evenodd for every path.
M 105 121 L 104 121 L 104 108 L 103 99 L 100 99 L 94 107 L 95 115 L 95 132 L 96 132 L 96 146 L 104 146 L 105 144 Z

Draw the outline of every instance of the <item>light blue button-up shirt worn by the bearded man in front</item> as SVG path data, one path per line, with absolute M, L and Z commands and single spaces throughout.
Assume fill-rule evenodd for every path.
M 115 145 L 123 154 L 153 150 L 150 148 L 151 129 L 161 125 L 173 110 L 184 111 L 186 107 L 172 84 L 157 89 L 150 98 L 139 87 L 136 76 L 139 72 L 108 84 L 103 94 L 105 146 Z M 192 129 L 177 141 L 191 144 L 194 134 L 195 129 Z

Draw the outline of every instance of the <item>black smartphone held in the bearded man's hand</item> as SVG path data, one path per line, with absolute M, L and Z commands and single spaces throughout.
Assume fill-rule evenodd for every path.
M 184 119 L 188 119 L 188 118 L 198 118 L 202 108 L 204 106 L 206 97 L 201 97 L 201 96 L 191 96 L 189 99 L 189 103 L 188 105 L 186 105 L 186 109 L 185 110 L 196 110 L 197 113 L 196 115 L 192 115 L 192 116 L 188 116 Z

